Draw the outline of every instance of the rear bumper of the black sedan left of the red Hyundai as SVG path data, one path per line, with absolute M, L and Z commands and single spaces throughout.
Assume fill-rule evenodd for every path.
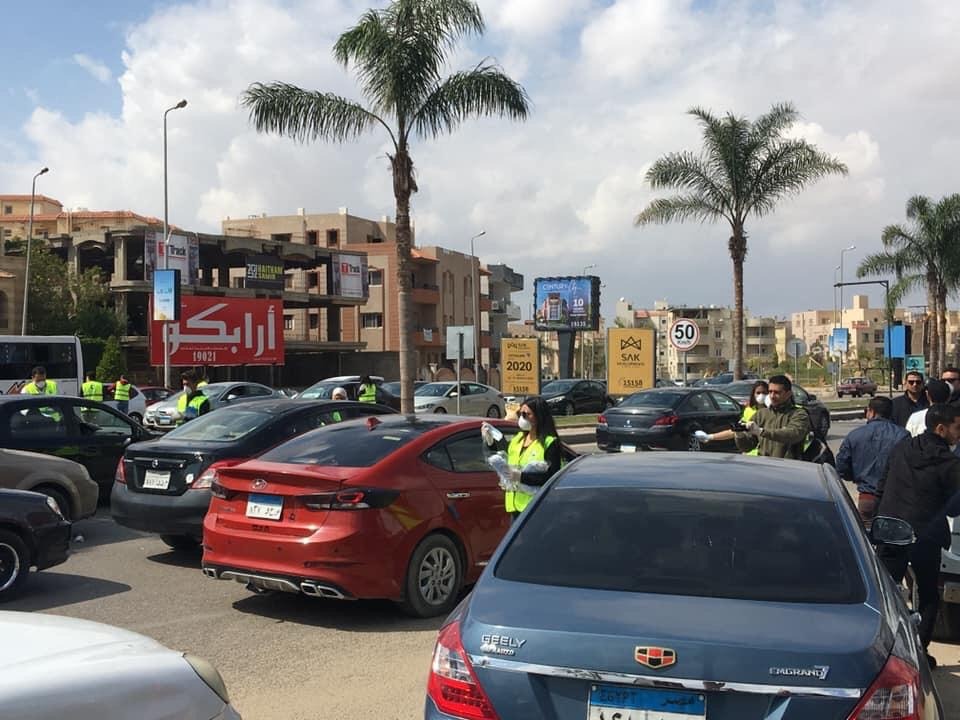
M 124 527 L 161 535 L 203 536 L 203 516 L 210 506 L 209 490 L 187 490 L 183 495 L 139 493 L 115 484 L 110 514 Z

